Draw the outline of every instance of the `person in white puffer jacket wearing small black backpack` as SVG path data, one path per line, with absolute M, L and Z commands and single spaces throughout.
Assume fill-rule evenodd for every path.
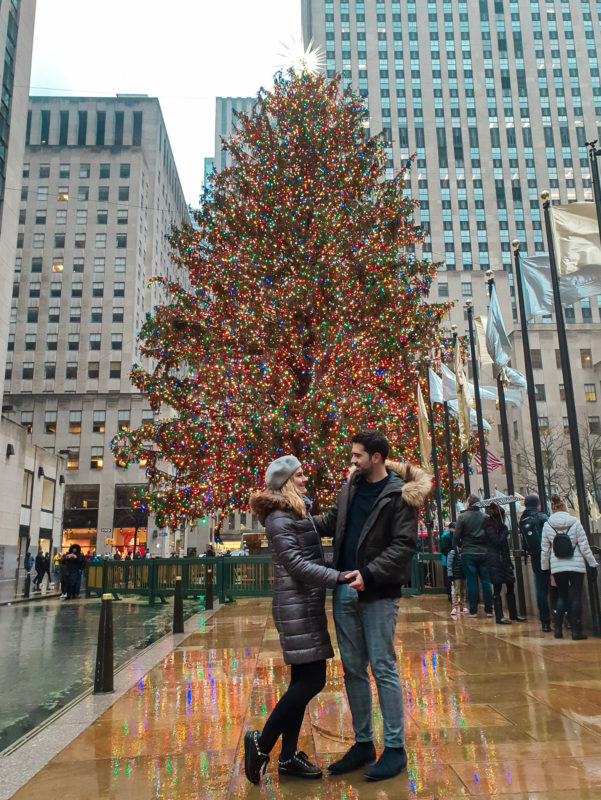
M 572 639 L 588 637 L 582 633 L 582 584 L 589 569 L 596 570 L 593 555 L 580 520 L 568 514 L 559 495 L 551 495 L 551 516 L 543 527 L 541 569 L 551 572 L 557 584 L 556 639 L 563 638 L 563 619 L 569 612 Z

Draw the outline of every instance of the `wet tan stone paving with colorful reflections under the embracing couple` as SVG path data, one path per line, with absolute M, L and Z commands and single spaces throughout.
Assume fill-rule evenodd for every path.
M 274 751 L 262 785 L 246 781 L 243 733 L 262 726 L 287 670 L 270 601 L 243 600 L 174 640 L 175 649 L 92 724 L 86 715 L 97 697 L 76 706 L 70 723 L 44 731 L 44 741 L 34 737 L 10 756 L 32 776 L 14 800 L 598 799 L 601 640 L 555 640 L 534 621 L 455 622 L 448 611 L 444 597 L 401 603 L 397 652 L 409 768 L 397 779 L 370 784 L 359 771 L 318 782 L 279 780 Z M 67 724 L 79 735 L 58 752 Z M 381 750 L 378 716 L 376 726 Z M 341 665 L 333 659 L 299 746 L 325 766 L 351 741 Z M 48 747 L 57 755 L 34 775 L 36 750 Z

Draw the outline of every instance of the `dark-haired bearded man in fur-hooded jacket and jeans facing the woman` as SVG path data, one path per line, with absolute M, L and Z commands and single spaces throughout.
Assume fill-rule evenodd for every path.
M 431 490 L 423 470 L 387 463 L 388 449 L 378 431 L 358 433 L 349 480 L 336 505 L 315 519 L 319 533 L 334 538 L 334 566 L 352 575 L 351 583 L 334 590 L 334 622 L 355 744 L 329 770 L 342 775 L 367 766 L 372 781 L 392 778 L 407 765 L 394 632 L 401 586 L 409 581 L 417 546 L 417 509 Z M 368 666 L 384 721 L 377 762 Z

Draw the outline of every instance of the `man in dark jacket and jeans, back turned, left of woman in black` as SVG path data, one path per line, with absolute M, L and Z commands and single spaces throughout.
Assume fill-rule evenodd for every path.
M 470 617 L 478 616 L 478 578 L 482 584 L 484 611 L 487 617 L 492 617 L 492 587 L 486 566 L 486 537 L 482 528 L 484 517 L 477 505 L 479 502 L 480 499 L 474 494 L 467 498 L 467 508 L 459 515 L 454 539 L 461 553 Z

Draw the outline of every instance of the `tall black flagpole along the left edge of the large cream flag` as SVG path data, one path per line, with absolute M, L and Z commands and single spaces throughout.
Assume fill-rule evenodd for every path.
M 574 469 L 574 481 L 576 483 L 576 496 L 578 506 L 581 509 L 580 522 L 585 530 L 587 538 L 590 536 L 590 525 L 586 506 L 586 488 L 584 482 L 584 471 L 582 469 L 582 454 L 580 452 L 580 439 L 578 437 L 578 417 L 576 416 L 576 401 L 574 399 L 574 384 L 572 383 L 572 369 L 570 367 L 570 355 L 568 350 L 568 337 L 566 334 L 566 324 L 561 305 L 561 295 L 559 293 L 559 276 L 557 274 L 557 262 L 555 261 L 555 247 L 553 245 L 553 232 L 551 230 L 551 201 L 549 192 L 541 192 L 540 198 L 543 201 L 543 214 L 545 217 L 545 232 L 547 234 L 547 246 L 549 248 L 549 265 L 551 268 L 551 283 L 553 285 L 553 302 L 555 305 L 555 322 L 557 324 L 557 338 L 559 340 L 559 355 L 561 358 L 561 371 L 563 374 L 563 388 L 565 393 L 566 412 L 568 417 L 568 430 L 570 432 L 570 446 L 572 448 L 572 461 Z M 588 582 L 589 601 L 591 608 L 591 619 L 593 623 L 593 633 L 601 636 L 601 609 L 599 608 L 599 597 L 596 594 L 596 583 Z

